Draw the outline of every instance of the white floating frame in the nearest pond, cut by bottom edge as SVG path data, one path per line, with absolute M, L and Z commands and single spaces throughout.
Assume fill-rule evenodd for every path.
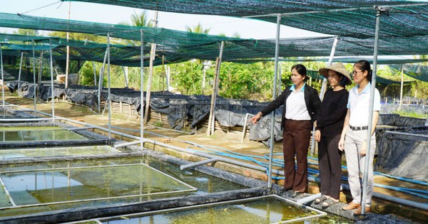
M 270 195 L 73 223 L 296 223 L 326 215 L 327 213 L 321 210 L 309 206 L 299 206 L 294 201 Z

